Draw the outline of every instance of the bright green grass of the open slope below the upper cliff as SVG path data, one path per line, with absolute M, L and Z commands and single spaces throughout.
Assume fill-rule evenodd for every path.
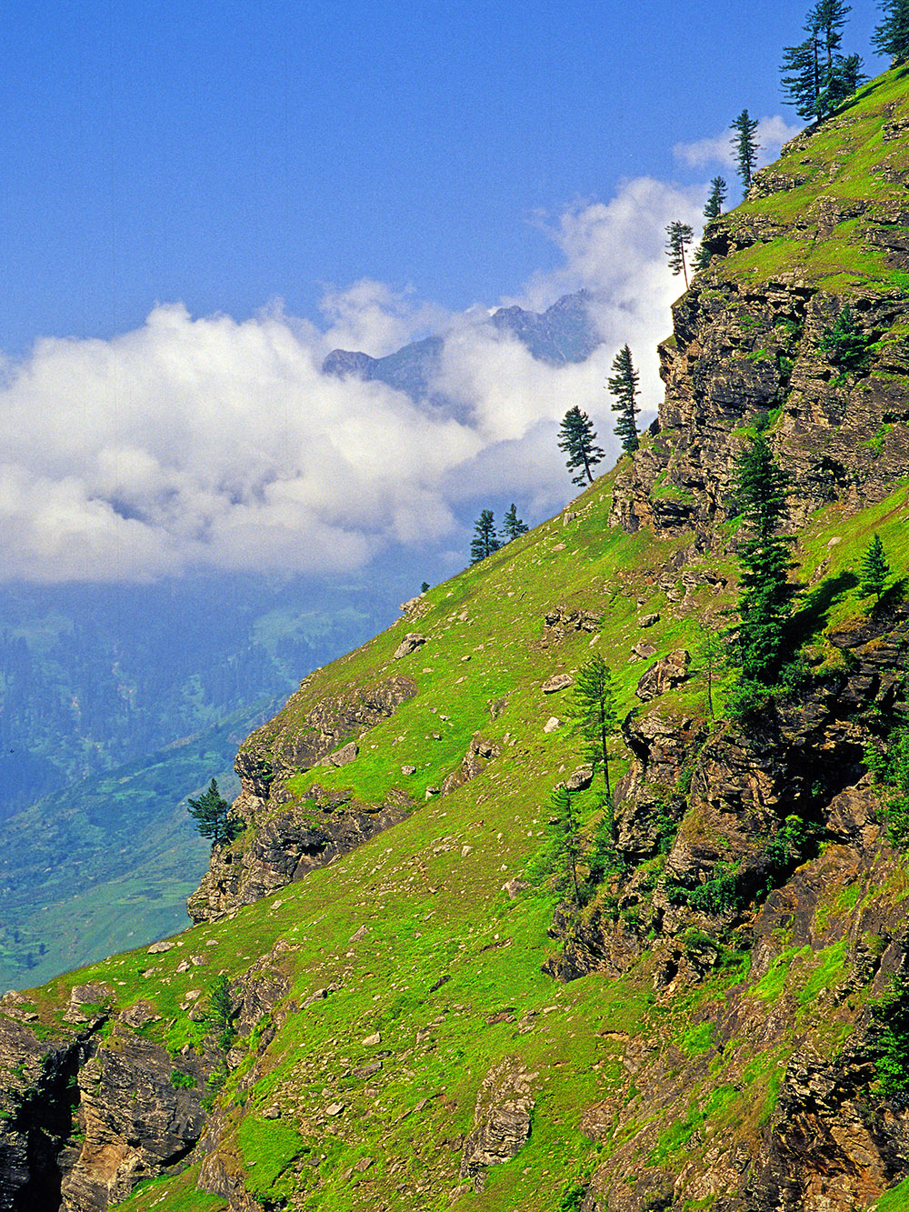
M 685 588 L 681 576 L 674 584 L 665 577 L 674 543 L 650 532 L 629 537 L 610 530 L 610 481 L 598 481 L 566 514 L 430 591 L 419 607 L 419 627 L 429 639 L 406 658 L 418 694 L 361 739 L 355 764 L 319 772 L 324 784 L 351 787 L 365 799 L 383 794 L 389 783 L 406 787 L 418 801 L 407 821 L 229 920 L 177 936 L 166 954 L 116 956 L 33 996 L 50 1028 L 59 1022 L 57 1007 L 74 983 L 109 982 L 120 1006 L 150 1002 L 160 1018 L 142 1034 L 164 1041 L 177 1064 L 181 1048 L 205 1033 L 191 1022 L 188 999 L 194 990 L 205 997 L 216 973 L 240 976 L 270 954 L 288 976 L 296 1006 L 314 990 L 336 985 L 324 1001 L 279 1016 L 264 1058 L 256 1057 L 250 1040 L 248 1058 L 222 1096 L 228 1157 L 263 1206 L 284 1206 L 280 1199 L 287 1197 L 288 1206 L 332 1212 L 367 1205 L 558 1208 L 562 1194 L 608 1148 L 581 1133 L 581 1110 L 617 1092 L 623 1099 L 638 1097 L 623 1063 L 634 1040 L 653 1050 L 659 1041 L 671 1042 L 687 1056 L 707 1052 L 711 1033 L 704 1008 L 749 981 L 747 954 L 730 953 L 702 988 L 669 1002 L 654 996 L 646 964 L 618 981 L 591 974 L 556 984 L 541 972 L 555 947 L 545 932 L 556 898 L 531 887 L 511 901 L 502 890 L 539 848 L 549 791 L 579 760 L 577 741 L 564 727 L 543 731 L 551 715 L 564 716 L 566 703 L 565 692 L 545 696 L 541 684 L 576 669 L 595 646 L 613 665 L 628 710 L 645 668 L 629 664 L 630 647 L 646 635 L 661 652 L 693 650 L 704 612 L 731 600 L 732 583 L 720 594 L 702 585 L 673 601 Z M 805 534 L 805 579 L 824 560 L 829 578 L 854 570 L 875 531 L 903 574 L 908 493 L 909 485 L 902 485 L 879 507 L 851 518 L 836 507 L 819 513 Z M 840 542 L 830 547 L 833 538 Z M 732 565 L 718 568 L 714 561 L 710 570 L 731 574 Z M 577 631 L 547 641 L 543 617 L 559 602 L 595 610 L 601 625 L 593 635 Z M 842 595 L 830 622 L 845 624 L 863 605 L 853 594 Z M 661 622 L 642 631 L 638 617 L 653 611 Z M 413 627 L 412 619 L 401 621 L 320 670 L 307 690 L 325 693 L 351 678 L 379 676 Z M 505 696 L 508 705 L 491 719 L 490 703 Z M 661 699 L 659 709 L 705 721 L 703 679 L 696 674 L 671 702 Z M 502 745 L 503 756 L 450 796 L 433 795 L 429 789 L 453 768 L 476 730 Z M 410 781 L 400 774 L 408 764 L 418 767 Z M 301 776 L 301 794 L 309 781 Z M 894 888 L 899 894 L 904 882 Z M 865 894 L 854 885 L 831 888 L 824 913 L 840 911 L 837 898 L 854 904 Z M 205 964 L 179 972 L 189 954 Z M 784 967 L 751 984 L 750 996 L 762 1006 L 785 985 L 802 1002 L 802 1030 L 829 1035 L 814 994 L 841 971 L 842 959 L 841 948 L 788 955 Z M 373 1033 L 381 1041 L 364 1042 Z M 382 1068 L 364 1077 L 364 1067 L 377 1056 Z M 513 1056 L 538 1074 L 531 1138 L 514 1161 L 491 1168 L 482 1194 L 452 1196 L 459 1185 L 452 1149 L 471 1127 L 478 1085 L 491 1065 Z M 755 1050 L 744 1088 L 705 1074 L 703 1097 L 692 1091 L 653 1156 L 680 1165 L 696 1130 L 710 1136 L 768 1114 L 782 1056 L 778 1048 L 772 1054 Z M 338 1102 L 342 1113 L 327 1116 L 326 1108 Z M 275 1107 L 281 1117 L 265 1119 L 263 1113 Z M 368 1167 L 358 1170 L 365 1159 Z M 195 1177 L 190 1168 L 143 1184 L 125 1206 L 160 1212 L 227 1207 L 198 1193 Z

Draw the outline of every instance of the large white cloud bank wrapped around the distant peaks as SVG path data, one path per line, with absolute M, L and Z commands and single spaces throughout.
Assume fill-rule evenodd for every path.
M 458 510 L 490 496 L 530 520 L 559 508 L 573 491 L 556 447 L 567 408 L 618 453 L 605 383 L 621 345 L 656 408 L 656 343 L 681 291 L 664 228 L 694 225 L 703 193 L 642 178 L 550 225 L 564 263 L 520 302 L 591 292 L 605 343 L 581 365 L 549 366 L 476 310 L 450 316 L 368 280 L 326 292 L 327 331 L 278 307 L 240 322 L 167 304 L 110 341 L 39 341 L 0 367 L 0 567 L 44 582 L 331 574 L 394 543 L 459 548 Z M 331 348 L 378 356 L 440 326 L 431 389 L 452 408 L 321 373 Z

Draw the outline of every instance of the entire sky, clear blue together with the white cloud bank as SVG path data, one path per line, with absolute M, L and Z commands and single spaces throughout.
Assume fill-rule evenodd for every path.
M 856 0 L 844 48 L 879 19 Z M 424 544 L 463 566 L 479 508 L 572 493 L 573 405 L 617 453 L 616 348 L 659 399 L 728 124 L 765 156 L 790 0 L 13 0 L 0 29 L 0 576 L 332 576 Z M 707 147 L 707 154 L 697 149 Z M 686 150 L 687 149 L 687 150 Z M 602 349 L 554 371 L 470 308 L 596 292 Z M 430 328 L 454 423 L 328 381 L 335 347 Z

